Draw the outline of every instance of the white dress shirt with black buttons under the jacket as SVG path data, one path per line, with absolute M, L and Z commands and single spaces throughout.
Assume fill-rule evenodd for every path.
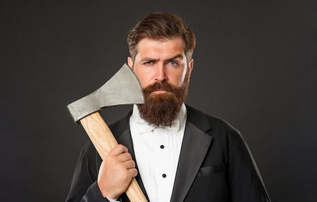
M 130 131 L 138 175 L 141 175 L 151 202 L 168 202 L 171 199 L 186 118 L 187 110 L 183 103 L 172 127 L 155 128 L 140 117 L 137 105 L 133 107 Z

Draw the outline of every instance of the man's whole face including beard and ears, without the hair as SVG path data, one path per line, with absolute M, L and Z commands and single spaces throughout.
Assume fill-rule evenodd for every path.
M 187 65 L 185 44 L 180 38 L 155 41 L 144 38 L 138 45 L 133 67 L 144 91 L 145 102 L 138 105 L 140 116 L 149 125 L 171 127 L 178 117 L 188 90 L 193 61 Z

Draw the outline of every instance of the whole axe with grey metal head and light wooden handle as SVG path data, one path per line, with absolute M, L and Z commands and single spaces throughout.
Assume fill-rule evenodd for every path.
M 99 114 L 105 107 L 124 104 L 143 104 L 140 82 L 125 63 L 107 83 L 92 94 L 67 106 L 76 124 L 82 124 L 99 155 L 104 159 L 118 143 Z M 131 202 L 146 202 L 146 198 L 133 177 L 126 194 Z

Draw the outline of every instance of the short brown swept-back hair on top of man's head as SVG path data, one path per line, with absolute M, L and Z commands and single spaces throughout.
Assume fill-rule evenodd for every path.
M 187 62 L 190 61 L 195 48 L 195 35 L 184 21 L 177 15 L 165 12 L 154 12 L 148 14 L 139 21 L 129 32 L 127 42 L 130 56 L 135 60 L 137 55 L 137 44 L 142 38 L 155 40 L 173 39 L 181 37 L 185 43 L 185 55 Z

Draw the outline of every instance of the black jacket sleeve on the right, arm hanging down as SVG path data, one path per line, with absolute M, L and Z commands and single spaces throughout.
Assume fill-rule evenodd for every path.
M 228 179 L 232 202 L 270 202 L 259 170 L 242 134 L 229 151 Z

